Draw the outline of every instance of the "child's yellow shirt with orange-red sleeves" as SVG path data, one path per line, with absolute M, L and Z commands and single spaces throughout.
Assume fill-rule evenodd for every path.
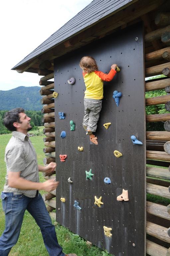
M 103 98 L 103 81 L 111 81 L 116 74 L 116 70 L 111 69 L 108 74 L 101 71 L 84 73 L 85 81 L 85 99 L 101 100 Z

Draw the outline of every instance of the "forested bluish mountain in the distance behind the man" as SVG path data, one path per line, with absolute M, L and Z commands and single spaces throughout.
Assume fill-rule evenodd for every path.
M 8 91 L 0 90 L 0 110 L 11 110 L 17 107 L 22 107 L 25 110 L 41 110 L 40 88 L 38 86 L 19 86 Z

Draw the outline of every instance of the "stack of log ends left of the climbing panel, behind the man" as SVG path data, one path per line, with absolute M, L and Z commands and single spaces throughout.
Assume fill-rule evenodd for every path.
M 47 66 L 50 67 L 50 64 L 48 61 L 41 64 L 40 67 L 40 75 L 45 75 L 40 79 L 39 84 L 42 86 L 40 90 L 40 95 L 43 96 L 41 99 L 41 104 L 43 105 L 43 108 L 41 112 L 44 114 L 42 118 L 42 122 L 44 123 L 44 130 L 43 133 L 46 135 L 45 138 L 43 138 L 45 148 L 43 148 L 43 152 L 45 153 L 45 158 L 43 159 L 43 163 L 45 165 L 55 162 L 55 110 L 54 110 L 54 82 L 48 81 L 49 79 L 54 78 L 54 73 L 48 72 Z M 45 69 L 46 68 L 46 69 Z M 43 173 L 43 176 L 45 179 L 54 178 L 56 171 L 53 172 L 46 172 Z M 43 195 L 43 199 L 47 205 L 47 210 L 50 212 L 50 215 L 52 218 L 55 219 L 55 213 L 52 212 L 54 209 L 56 209 L 56 200 L 54 198 L 56 197 L 56 190 L 51 191 L 50 193 L 47 193 Z

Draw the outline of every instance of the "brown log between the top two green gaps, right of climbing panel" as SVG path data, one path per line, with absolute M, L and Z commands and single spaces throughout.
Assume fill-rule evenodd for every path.
M 153 81 L 153 82 L 147 82 L 145 83 L 145 91 L 155 91 L 155 90 L 161 90 L 165 89 L 166 86 L 170 85 L 170 78 L 166 78 L 163 80 Z

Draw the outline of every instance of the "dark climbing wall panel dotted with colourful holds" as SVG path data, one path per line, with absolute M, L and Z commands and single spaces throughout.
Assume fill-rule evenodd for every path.
M 83 56 L 93 56 L 99 70 L 108 73 L 116 63 L 120 72 L 111 82 L 104 82 L 104 99 L 96 136 L 98 145 L 90 144 L 82 126 L 85 84 L 79 67 Z M 143 30 L 137 24 L 120 30 L 86 47 L 55 60 L 55 136 L 57 180 L 57 221 L 115 256 L 145 255 L 145 101 Z M 74 77 L 75 84 L 68 83 Z M 113 91 L 122 93 L 119 106 Z M 58 112 L 64 112 L 60 119 Z M 70 121 L 75 131 L 70 130 Z M 110 122 L 105 129 L 103 124 Z M 61 132 L 66 137 L 61 138 Z M 132 143 L 134 135 L 143 145 Z M 78 147 L 83 147 L 79 151 Z M 116 157 L 113 151 L 122 156 Z M 59 155 L 66 154 L 65 162 Z M 91 169 L 92 180 L 85 171 Z M 73 183 L 68 182 L 71 178 Z M 108 177 L 111 184 L 106 184 Z M 122 190 L 129 201 L 117 201 Z M 94 204 L 95 197 L 103 203 Z M 65 203 L 61 201 L 65 198 Z M 75 200 L 80 209 L 74 207 Z M 105 235 L 103 226 L 111 228 Z M 109 233 L 111 233 L 109 235 Z

